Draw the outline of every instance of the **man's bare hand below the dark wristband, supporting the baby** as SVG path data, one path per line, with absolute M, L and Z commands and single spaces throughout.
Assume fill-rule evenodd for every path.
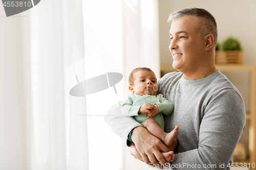
M 132 133 L 132 140 L 135 143 L 136 150 L 131 151 L 131 154 L 146 164 L 153 163 L 154 165 L 160 166 L 161 164 L 167 163 L 161 152 L 169 152 L 170 150 L 166 147 L 163 142 L 157 137 L 153 136 L 143 127 L 136 127 Z M 161 166 L 160 166 L 161 167 Z

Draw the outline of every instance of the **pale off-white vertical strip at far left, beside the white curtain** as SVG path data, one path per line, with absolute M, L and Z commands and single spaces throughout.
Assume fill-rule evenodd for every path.
M 27 169 L 22 17 L 0 5 L 0 169 Z

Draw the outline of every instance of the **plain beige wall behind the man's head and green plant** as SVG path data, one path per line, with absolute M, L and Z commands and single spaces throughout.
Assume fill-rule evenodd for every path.
M 159 31 L 160 31 L 160 63 L 172 64 L 168 45 L 170 25 L 167 19 L 170 13 L 182 8 L 204 8 L 214 15 L 218 26 L 218 41 L 226 37 L 237 37 L 242 42 L 244 64 L 256 64 L 256 1 L 252 0 L 160 0 L 159 2 Z

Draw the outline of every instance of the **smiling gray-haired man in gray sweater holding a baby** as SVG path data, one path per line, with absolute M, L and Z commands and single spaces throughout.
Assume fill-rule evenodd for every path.
M 169 49 L 173 67 L 159 80 L 159 93 L 174 104 L 165 117 L 165 131 L 179 126 L 177 160 L 172 169 L 229 169 L 232 154 L 245 127 L 245 106 L 238 89 L 215 66 L 217 23 L 206 10 L 187 8 L 169 16 Z M 132 134 L 132 155 L 163 168 L 160 152 L 169 149 L 115 105 L 105 121 L 123 139 Z M 127 141 L 127 145 L 131 145 Z M 159 164 L 160 162 L 161 164 Z

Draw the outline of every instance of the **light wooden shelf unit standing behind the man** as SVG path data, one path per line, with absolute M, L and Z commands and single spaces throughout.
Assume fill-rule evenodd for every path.
M 246 113 L 246 128 L 248 128 L 248 158 L 244 161 L 236 161 L 234 163 L 250 163 L 256 164 L 256 65 L 240 65 L 240 64 L 219 64 L 216 67 L 220 71 L 248 71 L 249 72 L 249 111 Z M 177 71 L 172 65 L 161 65 L 161 76 L 167 72 Z M 243 135 L 242 137 L 243 138 Z M 256 165 L 255 165 L 256 166 Z M 251 168 L 252 169 L 252 168 Z

